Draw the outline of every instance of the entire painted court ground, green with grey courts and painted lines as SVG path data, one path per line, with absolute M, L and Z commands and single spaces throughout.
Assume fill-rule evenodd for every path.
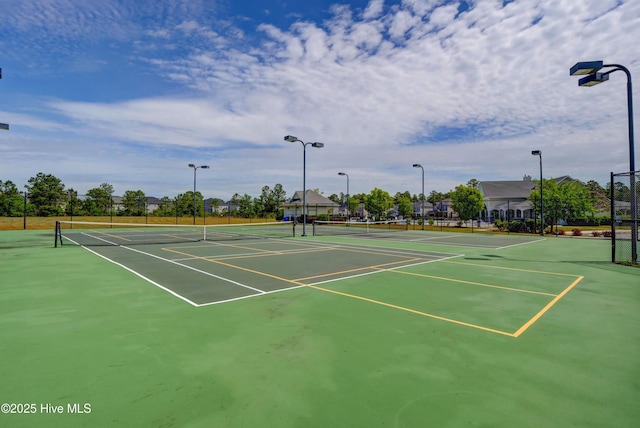
M 3 231 L 0 426 L 634 427 L 640 269 L 610 249 Z

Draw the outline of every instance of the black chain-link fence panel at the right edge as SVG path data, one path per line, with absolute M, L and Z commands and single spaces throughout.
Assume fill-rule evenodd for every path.
M 640 171 L 611 173 L 611 261 L 638 263 Z

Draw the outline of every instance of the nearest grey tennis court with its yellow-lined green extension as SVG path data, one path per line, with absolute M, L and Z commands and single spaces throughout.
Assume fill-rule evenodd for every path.
M 294 225 L 288 223 L 208 228 L 69 225 L 66 230 L 57 227 L 61 238 L 82 242 L 94 254 L 196 307 L 311 287 L 461 327 L 518 337 L 583 279 L 577 274 L 454 261 L 464 254 L 419 247 L 435 243 L 464 248 L 473 243 L 474 247 L 504 249 L 539 241 L 531 237 L 425 234 L 394 230 L 390 223 L 371 228 L 369 224 L 343 224 L 342 229 L 349 233 L 336 233 L 341 238 L 409 242 L 414 244 L 410 250 L 293 239 Z M 314 235 L 318 235 L 315 225 Z M 490 305 L 476 305 L 476 301 Z M 487 310 L 503 301 L 509 302 L 503 310 Z

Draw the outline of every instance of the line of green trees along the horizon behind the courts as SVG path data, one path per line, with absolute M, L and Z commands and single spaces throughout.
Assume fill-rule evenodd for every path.
M 534 182 L 538 182 L 534 180 Z M 442 193 L 432 191 L 424 197 L 425 210 L 429 205 L 433 208 L 445 199 L 451 200 L 451 206 L 462 221 L 477 218 L 484 208 L 481 192 L 478 190 L 478 180 L 471 179 L 464 185 Z M 116 210 L 113 203 L 113 186 L 103 183 L 96 188 L 89 189 L 78 197 L 75 189 L 67 189 L 62 180 L 51 174 L 38 173 L 29 179 L 25 192 L 20 192 L 17 186 L 8 181 L 0 180 L 0 216 L 16 217 L 28 216 L 61 216 L 61 215 L 123 215 L 123 216 L 189 216 L 194 212 L 193 191 L 178 194 L 175 197 L 162 197 L 153 212 L 147 209 L 147 196 L 142 190 L 127 190 L 122 195 Z M 540 198 L 538 186 L 531 192 L 529 200 L 534 206 L 536 214 L 540 213 Z M 571 219 L 606 211 L 610 206 L 610 184 L 606 188 L 591 180 L 586 185 L 573 182 L 558 185 L 556 180 L 543 180 L 543 204 L 547 223 L 552 224 L 559 218 Z M 321 192 L 320 192 L 321 193 Z M 614 198 L 616 200 L 630 200 L 629 188 L 620 182 L 614 183 Z M 411 194 L 409 191 L 389 192 L 374 188 L 369 193 L 346 195 L 332 194 L 328 197 L 335 203 L 346 206 L 351 213 L 357 212 L 361 205 L 376 219 L 387 218 L 389 211 L 397 207 L 397 214 L 403 218 L 415 216 L 414 203 L 423 200 L 422 194 Z M 282 204 L 287 200 L 286 191 L 281 184 L 273 188 L 264 186 L 258 197 L 248 194 L 234 194 L 224 211 L 230 215 L 242 217 L 279 217 L 282 215 Z M 204 215 L 204 197 L 200 192 L 195 194 L 196 212 Z M 212 198 L 210 212 L 220 211 L 224 201 Z M 429 205 L 427 205 L 429 204 Z M 26 212 L 25 212 L 26 209 Z

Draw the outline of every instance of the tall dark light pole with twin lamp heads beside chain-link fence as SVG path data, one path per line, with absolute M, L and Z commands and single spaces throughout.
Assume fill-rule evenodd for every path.
M 605 71 L 600 71 L 606 69 Z M 633 89 L 631 86 L 631 72 L 620 64 L 605 64 L 604 61 L 578 62 L 569 69 L 571 76 L 585 76 L 578 81 L 578 86 L 595 86 L 609 80 L 609 74 L 623 71 L 627 75 L 627 121 L 629 123 L 629 175 L 631 181 L 631 261 L 638 262 L 638 201 L 635 179 L 635 153 L 633 148 Z

